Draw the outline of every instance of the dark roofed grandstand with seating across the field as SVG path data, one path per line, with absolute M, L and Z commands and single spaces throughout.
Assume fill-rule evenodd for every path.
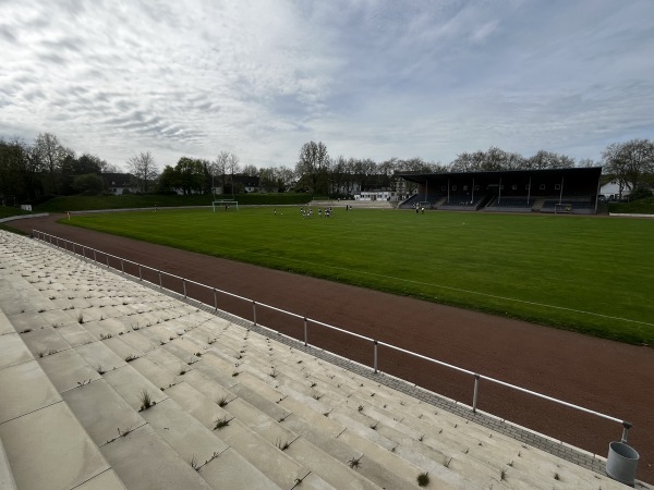
M 433 209 L 594 215 L 601 174 L 600 167 L 402 174 L 419 189 L 399 207 L 429 201 Z

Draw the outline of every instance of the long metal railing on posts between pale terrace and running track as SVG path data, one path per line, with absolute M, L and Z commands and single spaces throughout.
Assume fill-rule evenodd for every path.
M 462 375 L 465 375 L 465 376 L 470 376 L 474 380 L 473 392 L 472 392 L 472 405 L 470 405 L 470 408 L 471 408 L 471 411 L 473 413 L 476 413 L 476 411 L 477 411 L 477 400 L 479 400 L 479 391 L 480 391 L 480 381 L 484 380 L 484 381 L 489 381 L 489 382 L 495 383 L 495 384 L 500 385 L 500 387 L 505 387 L 505 388 L 508 388 L 508 389 L 511 389 L 511 390 L 514 390 L 514 391 L 518 391 L 518 392 L 521 392 L 521 393 L 529 394 L 531 396 L 535 396 L 535 397 L 538 397 L 538 399 L 547 400 L 549 402 L 556 403 L 558 405 L 561 405 L 561 406 L 565 406 L 565 407 L 568 407 L 568 408 L 572 408 L 572 409 L 576 409 L 576 411 L 579 411 L 579 412 L 582 412 L 582 413 L 585 413 L 585 414 L 590 414 L 590 415 L 593 415 L 593 416 L 596 416 L 596 417 L 600 417 L 600 418 L 603 418 L 603 419 L 606 419 L 606 420 L 609 420 L 609 421 L 614 421 L 614 422 L 620 424 L 622 426 L 621 442 L 623 442 L 623 443 L 628 442 L 629 429 L 632 427 L 632 425 L 629 421 L 627 421 L 627 420 L 622 420 L 622 419 L 619 419 L 617 417 L 611 417 L 610 415 L 602 414 L 600 412 L 592 411 L 590 408 L 585 408 L 585 407 L 582 407 L 582 406 L 579 406 L 579 405 L 574 405 L 572 403 L 565 402 L 562 400 L 558 400 L 558 399 L 555 399 L 555 397 L 552 397 L 552 396 L 547 396 L 545 394 L 542 394 L 542 393 L 538 393 L 538 392 L 535 392 L 535 391 L 526 390 L 526 389 L 518 387 L 516 384 L 507 383 L 505 381 L 501 381 L 501 380 L 498 380 L 498 379 L 495 379 L 495 378 L 491 378 L 488 376 L 480 375 L 477 372 L 473 372 L 473 371 L 470 371 L 468 369 L 463 369 L 463 368 L 460 368 L 458 366 L 453 366 L 451 364 L 447 364 L 447 363 L 444 363 L 441 360 L 437 360 L 437 359 L 434 359 L 434 358 L 431 358 L 431 357 L 427 357 L 427 356 L 424 356 L 424 355 L 421 355 L 421 354 L 417 354 L 417 353 L 414 353 L 414 352 L 411 352 L 411 351 L 398 347 L 398 346 L 392 345 L 392 344 L 388 344 L 388 343 L 385 343 L 385 342 L 382 342 L 382 341 L 377 341 L 375 339 L 372 339 L 372 338 L 368 338 L 368 336 L 365 336 L 365 335 L 361 335 L 359 333 L 350 332 L 350 331 L 347 331 L 344 329 L 340 329 L 338 327 L 331 326 L 329 323 L 325 323 L 325 322 L 322 322 L 322 321 L 318 321 L 318 320 L 315 320 L 315 319 L 310 319 L 310 318 L 307 318 L 305 316 L 298 315 L 298 314 L 294 314 L 292 311 L 287 311 L 284 309 L 277 308 L 275 306 L 267 305 L 265 303 L 259 303 L 259 302 L 256 302 L 254 299 L 246 298 L 246 297 L 240 296 L 238 294 L 230 293 L 228 291 L 218 290 L 216 287 L 213 287 L 213 286 L 209 286 L 209 285 L 206 285 L 206 284 L 202 284 L 199 282 L 192 281 L 190 279 L 181 278 L 179 275 L 174 275 L 174 274 L 171 274 L 171 273 L 168 273 L 168 272 L 165 272 L 165 271 L 161 271 L 161 270 L 148 267 L 148 266 L 144 266 L 144 265 L 134 262 L 134 261 L 129 260 L 129 259 L 117 257 L 114 255 L 110 255 L 110 254 L 107 254 L 105 252 L 101 252 L 101 250 L 98 250 L 98 249 L 95 249 L 95 248 L 92 248 L 92 247 L 87 247 L 86 245 L 81 245 L 78 243 L 74 243 L 74 242 L 71 242 L 71 241 L 65 240 L 65 238 L 60 238 L 58 236 L 50 235 L 48 233 L 44 233 L 44 232 L 40 232 L 40 231 L 37 231 L 37 230 L 33 230 L 32 236 L 34 238 L 47 242 L 47 243 L 49 243 L 51 245 L 56 245 L 56 246 L 58 246 L 60 248 L 64 248 L 66 252 L 71 252 L 73 254 L 82 255 L 83 257 L 85 257 L 87 259 L 93 259 L 95 262 L 100 264 L 104 267 L 107 267 L 108 269 L 109 268 L 113 268 L 116 270 L 120 270 L 123 274 L 124 273 L 129 273 L 126 271 L 126 268 L 125 268 L 125 265 L 126 265 L 128 269 L 131 268 L 135 272 L 135 273 L 132 273 L 131 275 L 133 275 L 133 277 L 137 275 L 140 281 L 148 282 L 150 284 L 154 284 L 154 285 L 158 286 L 159 289 L 165 289 L 167 291 L 171 291 L 171 292 L 177 293 L 177 294 L 183 294 L 183 296 L 185 298 L 191 297 L 192 299 L 198 301 L 198 302 L 201 302 L 201 303 L 203 303 L 203 304 L 205 304 L 205 305 L 207 305 L 209 307 L 213 307 L 216 311 L 219 310 L 219 308 L 218 308 L 218 293 L 220 293 L 222 295 L 226 295 L 228 297 L 231 297 L 231 298 L 239 299 L 241 302 L 245 302 L 246 304 L 249 304 L 249 305 L 252 306 L 252 322 L 253 322 L 254 326 L 257 326 L 257 311 L 261 313 L 261 309 L 267 309 L 267 310 L 270 310 L 270 311 L 282 314 L 282 315 L 284 315 L 287 317 L 295 318 L 295 319 L 298 319 L 298 320 L 300 320 L 302 322 L 302 332 L 303 332 L 302 336 L 303 336 L 303 339 L 301 339 L 301 341 L 304 343 L 305 346 L 312 345 L 308 342 L 308 323 L 310 322 L 312 324 L 316 324 L 316 326 L 319 326 L 322 328 L 328 329 L 328 330 L 330 330 L 332 332 L 339 332 L 341 334 L 344 334 L 344 335 L 358 339 L 360 341 L 370 343 L 370 345 L 372 347 L 373 363 L 372 363 L 372 366 L 368 366 L 368 367 L 373 368 L 375 373 L 379 372 L 379 369 L 378 369 L 378 366 L 379 366 L 379 350 L 378 350 L 378 347 L 379 346 L 384 346 L 384 347 L 387 347 L 387 348 L 389 348 L 391 351 L 395 351 L 395 352 L 398 352 L 398 353 L 402 353 L 402 354 L 407 354 L 407 355 L 415 357 L 417 359 L 422 359 L 422 360 L 425 360 L 425 362 L 428 362 L 428 363 L 432 363 L 432 364 L 435 364 L 435 365 L 438 365 L 438 366 L 451 369 L 451 370 L 457 371 L 459 373 L 462 373 Z M 62 244 L 63 244 L 63 247 L 62 247 Z M 78 250 L 81 250 L 81 253 Z M 98 259 L 98 256 L 99 256 L 99 259 Z M 102 258 L 105 259 L 104 264 L 100 261 Z M 137 271 L 137 274 L 136 274 L 136 271 Z M 146 275 L 149 279 L 146 278 Z M 170 282 L 170 280 L 178 282 L 178 285 L 181 286 L 181 292 L 180 291 L 175 291 L 175 290 L 170 289 L 170 287 L 165 287 L 164 286 L 164 279 L 165 278 L 166 278 L 167 282 Z M 205 293 L 204 294 L 205 298 L 213 297 L 213 304 L 211 303 L 207 303 L 207 301 L 203 301 L 203 299 L 198 299 L 197 297 L 190 296 L 189 295 L 189 287 L 190 286 L 196 286 L 199 290 L 203 290 L 204 293 Z M 261 327 L 263 327 L 263 326 L 261 326 Z M 264 327 L 264 328 L 266 328 L 266 327 Z M 276 332 L 276 333 L 283 335 L 283 333 L 280 333 L 280 332 Z

